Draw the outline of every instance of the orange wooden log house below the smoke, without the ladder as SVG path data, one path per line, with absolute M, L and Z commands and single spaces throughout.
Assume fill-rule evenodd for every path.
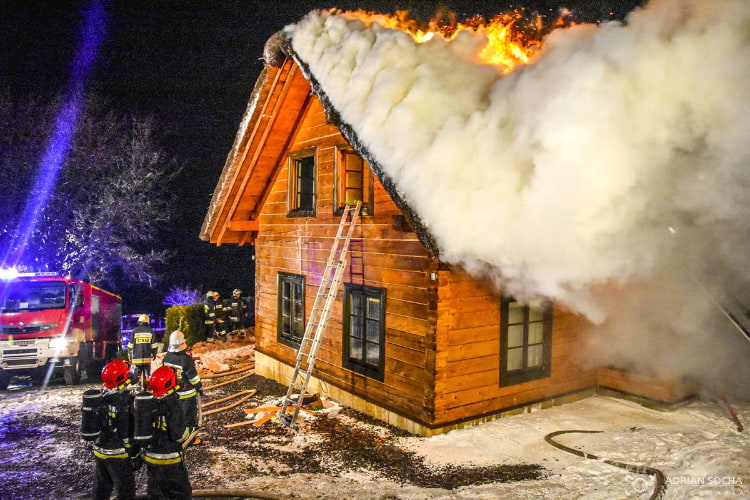
M 200 235 L 255 245 L 256 373 L 289 384 L 342 207 L 362 200 L 313 391 L 426 436 L 585 397 L 602 381 L 662 402 L 684 397 L 587 366 L 575 355 L 581 316 L 530 308 L 441 262 L 419 214 L 277 41 Z

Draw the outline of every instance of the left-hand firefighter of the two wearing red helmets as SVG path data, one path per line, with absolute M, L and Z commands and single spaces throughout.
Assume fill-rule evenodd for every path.
M 135 498 L 133 472 L 140 468 L 141 457 L 132 439 L 133 397 L 126 390 L 130 383 L 129 370 L 121 359 L 107 363 L 102 370 L 104 390 L 99 405 L 90 415 L 82 412 L 82 418 L 96 420 L 98 429 L 93 446 L 95 465 L 91 496 L 95 500 L 108 499 L 113 489 L 118 499 Z

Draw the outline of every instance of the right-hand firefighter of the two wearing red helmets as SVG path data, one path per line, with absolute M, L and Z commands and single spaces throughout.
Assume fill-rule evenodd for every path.
M 188 438 L 188 429 L 175 393 L 175 373 L 169 367 L 160 366 L 154 370 L 148 385 L 154 396 L 154 412 L 153 435 L 143 456 L 148 470 L 147 498 L 190 499 L 193 488 L 182 456 L 182 443 Z

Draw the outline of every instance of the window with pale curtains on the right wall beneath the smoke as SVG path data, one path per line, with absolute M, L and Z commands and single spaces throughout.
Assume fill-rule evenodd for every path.
M 537 309 L 503 297 L 500 321 L 500 386 L 549 377 L 552 307 Z

